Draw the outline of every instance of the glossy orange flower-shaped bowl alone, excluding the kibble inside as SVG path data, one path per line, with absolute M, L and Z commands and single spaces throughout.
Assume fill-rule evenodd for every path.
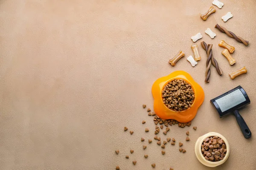
M 172 111 L 167 108 L 163 103 L 162 91 L 164 86 L 173 79 L 183 79 L 187 83 L 191 84 L 193 91 L 195 92 L 195 99 L 191 107 L 185 111 Z M 178 122 L 186 123 L 194 119 L 198 108 L 204 102 L 204 91 L 198 83 L 185 71 L 174 71 L 168 76 L 157 79 L 152 86 L 152 94 L 154 97 L 154 112 L 161 119 L 175 119 Z

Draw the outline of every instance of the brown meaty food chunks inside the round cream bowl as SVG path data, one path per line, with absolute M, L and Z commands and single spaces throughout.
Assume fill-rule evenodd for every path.
M 225 142 L 218 136 L 204 139 L 201 151 L 207 161 L 220 161 L 227 153 Z

